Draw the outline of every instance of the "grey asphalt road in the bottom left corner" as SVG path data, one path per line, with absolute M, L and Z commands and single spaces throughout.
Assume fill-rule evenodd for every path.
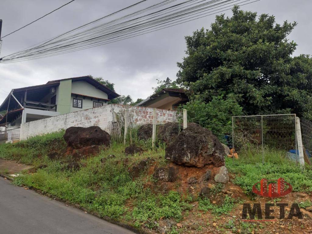
M 0 177 L 1 234 L 133 234 L 32 190 L 12 185 Z

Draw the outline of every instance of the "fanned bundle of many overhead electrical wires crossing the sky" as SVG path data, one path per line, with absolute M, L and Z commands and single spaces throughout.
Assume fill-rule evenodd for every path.
M 137 2 L 44 42 L 7 55 L 0 63 L 51 57 L 118 42 L 230 10 L 234 5 L 242 6 L 260 0 L 163 0 L 111 19 L 114 15 L 138 7 L 147 1 Z

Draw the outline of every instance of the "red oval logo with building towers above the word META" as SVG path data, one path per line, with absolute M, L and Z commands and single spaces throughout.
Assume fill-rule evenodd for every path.
M 268 185 L 268 181 L 275 181 Z M 277 183 L 276 183 L 277 182 Z M 260 191 L 256 188 L 256 185 L 260 183 Z M 285 190 L 285 185 L 288 188 Z M 267 180 L 262 179 L 260 182 L 257 182 L 252 187 L 252 192 L 256 193 L 261 197 L 282 197 L 289 194 L 292 191 L 292 186 L 290 183 L 285 182 L 283 178 L 278 180 Z

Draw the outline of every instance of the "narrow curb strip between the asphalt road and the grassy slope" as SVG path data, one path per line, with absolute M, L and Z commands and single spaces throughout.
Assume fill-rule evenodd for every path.
M 8 175 L 5 175 L 5 174 L 2 174 L 0 173 L 0 177 L 3 177 L 9 181 L 13 181 L 14 179 L 12 177 L 9 177 Z M 122 223 L 122 222 L 119 222 L 113 218 L 110 218 L 108 216 L 104 216 L 104 217 L 101 217 L 98 213 L 96 212 L 89 212 L 85 207 L 81 207 L 79 204 L 74 204 L 74 203 L 71 203 L 65 199 L 61 199 L 59 197 L 56 197 L 54 195 L 51 195 L 51 194 L 48 194 L 48 193 L 44 193 L 42 192 L 40 189 L 37 189 L 35 187 L 28 187 L 29 189 L 31 189 L 32 191 L 35 191 L 36 193 L 39 193 L 45 197 L 49 197 L 49 198 L 52 198 L 53 200 L 56 200 L 58 202 L 61 202 L 61 203 L 64 203 L 65 205 L 68 205 L 68 206 L 71 206 L 71 207 L 74 207 L 74 208 L 77 208 L 81 211 L 84 211 L 84 212 L 87 212 L 88 214 L 90 215 L 93 215 L 99 219 L 103 219 L 107 222 L 110 222 L 112 224 L 115 224 L 115 225 L 118 225 L 119 227 L 123 227 L 131 232 L 134 232 L 134 233 L 137 233 L 137 234 L 152 234 L 152 232 L 148 232 L 148 231 L 145 231 L 145 230 L 142 230 L 142 229 L 138 229 L 136 227 L 133 227 L 131 225 L 128 225 L 128 224 L 125 224 L 125 223 Z

